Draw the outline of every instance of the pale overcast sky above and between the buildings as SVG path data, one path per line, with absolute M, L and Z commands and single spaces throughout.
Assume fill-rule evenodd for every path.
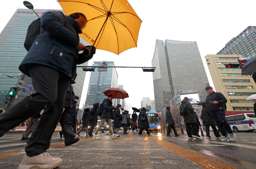
M 61 9 L 56 0 L 29 0 L 35 9 Z M 116 66 L 151 66 L 156 39 L 197 41 L 205 70 L 213 86 L 204 56 L 216 54 L 247 26 L 255 26 L 255 0 L 128 0 L 143 21 L 138 47 L 120 55 L 96 50 L 93 61 L 114 61 Z M 25 8 L 22 0 L 0 0 L 0 31 L 16 9 Z M 184 68 L 186 69 L 186 68 Z M 118 84 L 124 85 L 130 98 L 126 102 L 140 107 L 142 97 L 154 99 L 152 72 L 117 68 Z M 90 73 L 86 73 L 82 102 L 88 90 Z M 81 105 L 82 105 L 81 102 Z

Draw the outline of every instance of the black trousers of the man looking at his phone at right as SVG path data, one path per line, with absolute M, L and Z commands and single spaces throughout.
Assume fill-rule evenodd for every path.
M 211 112 L 212 118 L 216 122 L 219 131 L 221 131 L 221 134 L 223 136 L 227 136 L 227 132 L 229 134 L 233 134 L 232 129 L 230 125 L 228 124 L 228 121 L 226 121 L 225 117 L 225 111 L 224 110 L 218 110 L 217 112 Z

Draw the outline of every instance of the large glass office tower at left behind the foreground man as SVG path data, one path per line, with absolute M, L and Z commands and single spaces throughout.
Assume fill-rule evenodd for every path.
M 35 12 L 39 16 L 45 11 L 47 11 L 47 9 L 35 9 Z M 60 11 L 63 12 L 63 10 Z M 32 10 L 17 9 L 0 33 L 0 108 L 7 106 L 7 104 L 4 103 L 5 97 L 10 88 L 17 84 L 19 76 L 21 75 L 18 67 L 27 53 L 23 46 L 26 32 L 30 23 L 37 18 L 38 17 Z M 89 43 L 81 37 L 80 40 L 84 45 L 89 45 Z M 84 65 L 87 65 L 87 63 Z M 77 68 L 77 70 L 77 80 L 73 86 L 75 95 L 81 97 L 85 72 L 83 72 L 81 68 Z M 7 75 L 12 75 L 14 78 L 9 78 Z M 32 81 L 28 76 L 26 76 L 24 83 L 32 85 Z M 27 94 L 20 90 L 14 104 L 34 92 L 35 91 L 28 91 Z

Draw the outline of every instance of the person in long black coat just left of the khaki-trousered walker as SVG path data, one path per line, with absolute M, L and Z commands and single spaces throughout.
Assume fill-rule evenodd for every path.
M 100 106 L 100 103 L 94 103 L 93 108 L 89 112 L 89 125 L 91 128 L 89 128 L 89 137 L 93 137 L 93 129 L 97 126 L 97 121 L 98 121 L 98 108 Z

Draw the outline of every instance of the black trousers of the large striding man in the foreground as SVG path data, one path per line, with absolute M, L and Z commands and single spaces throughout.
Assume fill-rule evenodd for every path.
M 1 114 L 0 134 L 44 109 L 31 143 L 25 148 L 26 154 L 33 157 L 46 152 L 50 147 L 51 137 L 63 112 L 70 80 L 56 69 L 41 65 L 31 65 L 29 72 L 35 93 Z

